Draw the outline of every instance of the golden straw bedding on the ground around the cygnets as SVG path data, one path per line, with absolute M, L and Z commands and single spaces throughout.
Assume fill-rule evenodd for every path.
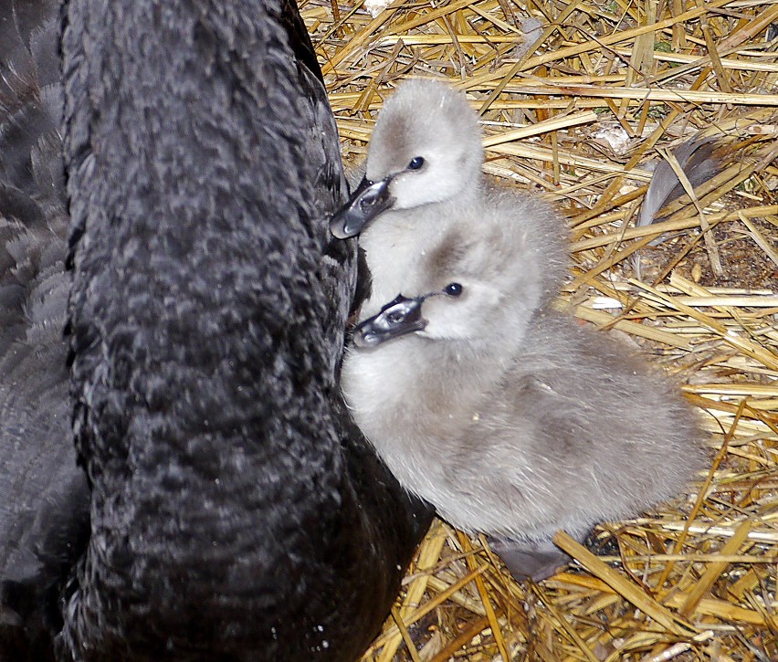
M 398 79 L 467 90 L 488 172 L 570 216 L 558 305 L 678 375 L 711 463 L 689 495 L 605 523 L 596 553 L 560 533 L 576 562 L 540 584 L 436 521 L 364 659 L 778 659 L 778 4 L 381 2 L 302 0 L 344 159 Z M 651 163 L 697 131 L 722 173 L 636 228 Z

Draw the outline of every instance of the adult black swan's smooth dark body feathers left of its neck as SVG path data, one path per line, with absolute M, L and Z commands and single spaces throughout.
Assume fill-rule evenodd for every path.
M 88 531 L 70 433 L 57 3 L 0 5 L 0 659 L 50 657 Z

